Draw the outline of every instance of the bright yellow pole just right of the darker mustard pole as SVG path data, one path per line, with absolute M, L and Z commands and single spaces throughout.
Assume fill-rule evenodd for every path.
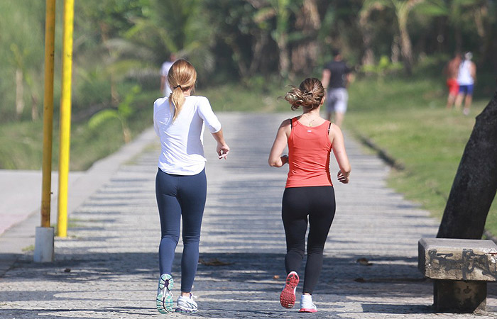
M 57 235 L 67 237 L 67 181 L 71 135 L 72 30 L 74 0 L 64 0 L 62 33 L 62 96 L 60 101 L 59 196 Z

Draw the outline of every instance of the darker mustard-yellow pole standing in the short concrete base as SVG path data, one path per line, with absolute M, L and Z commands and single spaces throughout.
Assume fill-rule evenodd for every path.
M 46 0 L 45 9 L 45 95 L 43 97 L 43 160 L 41 227 L 50 227 L 53 133 L 53 56 L 55 51 L 55 0 Z

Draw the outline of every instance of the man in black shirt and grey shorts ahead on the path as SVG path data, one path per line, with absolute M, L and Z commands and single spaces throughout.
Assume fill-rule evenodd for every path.
M 334 123 L 342 126 L 349 100 L 346 88 L 351 81 L 352 69 L 342 60 L 342 54 L 338 50 L 334 50 L 333 55 L 333 61 L 324 66 L 321 82 L 324 89 L 327 89 L 327 119 L 331 121 L 334 113 Z

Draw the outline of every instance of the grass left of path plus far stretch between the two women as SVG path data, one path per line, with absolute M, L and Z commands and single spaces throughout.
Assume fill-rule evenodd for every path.
M 264 93 L 266 92 L 266 93 Z M 208 96 L 214 111 L 271 112 L 285 107 L 277 97 L 285 89 L 256 90 L 241 85 L 217 86 L 197 91 Z M 133 96 L 133 113 L 127 118 L 131 138 L 153 124 L 153 101 L 158 91 L 143 91 Z M 78 116 L 75 116 L 78 118 Z M 53 121 L 53 169 L 58 169 L 59 120 Z M 96 128 L 90 128 L 87 118 L 73 121 L 71 127 L 70 169 L 81 171 L 112 154 L 124 145 L 121 122 L 110 118 Z M 41 169 L 43 154 L 43 119 L 2 123 L 0 125 L 0 169 Z

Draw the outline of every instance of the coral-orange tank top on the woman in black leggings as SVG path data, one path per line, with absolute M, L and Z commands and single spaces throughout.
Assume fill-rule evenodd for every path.
M 329 176 L 329 153 L 332 142 L 328 131 L 331 123 L 305 126 L 292 118 L 288 138 L 288 179 L 285 188 L 307 186 L 332 186 Z

